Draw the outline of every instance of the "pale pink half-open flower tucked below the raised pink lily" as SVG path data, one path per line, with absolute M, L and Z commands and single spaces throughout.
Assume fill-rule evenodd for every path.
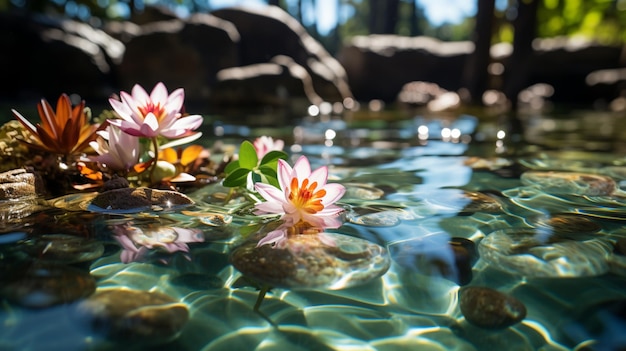
M 122 132 L 115 126 L 99 131 L 98 138 L 90 143 L 98 153 L 89 159 L 112 171 L 128 172 L 139 163 L 139 138 Z

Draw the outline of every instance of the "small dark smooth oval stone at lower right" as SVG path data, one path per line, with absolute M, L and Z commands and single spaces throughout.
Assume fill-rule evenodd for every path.
M 526 306 L 511 295 L 471 286 L 459 292 L 461 313 L 469 323 L 486 329 L 504 329 L 526 317 Z

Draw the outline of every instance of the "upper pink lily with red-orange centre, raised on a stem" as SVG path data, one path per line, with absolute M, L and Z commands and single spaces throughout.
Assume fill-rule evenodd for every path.
M 202 116 L 181 117 L 185 93 L 182 88 L 168 95 L 167 88 L 157 83 L 150 95 L 139 85 L 135 85 L 132 95 L 121 92 L 121 101 L 109 99 L 111 106 L 121 119 L 111 119 L 109 123 L 124 132 L 147 138 L 162 135 L 166 138 L 180 138 L 188 135 L 202 124 Z

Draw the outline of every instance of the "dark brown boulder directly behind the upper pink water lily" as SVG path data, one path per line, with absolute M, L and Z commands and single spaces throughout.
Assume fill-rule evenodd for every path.
M 187 103 L 201 103 L 209 98 L 217 72 L 238 65 L 237 29 L 210 14 L 109 28 L 126 44 L 118 69 L 122 90 L 134 84 L 151 89 L 161 81 L 171 90 L 185 88 Z

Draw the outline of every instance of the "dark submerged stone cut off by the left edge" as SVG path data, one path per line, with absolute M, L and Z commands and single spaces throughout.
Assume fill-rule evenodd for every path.
M 96 281 L 78 268 L 29 262 L 2 267 L 0 296 L 30 308 L 44 308 L 79 300 L 96 290 Z

